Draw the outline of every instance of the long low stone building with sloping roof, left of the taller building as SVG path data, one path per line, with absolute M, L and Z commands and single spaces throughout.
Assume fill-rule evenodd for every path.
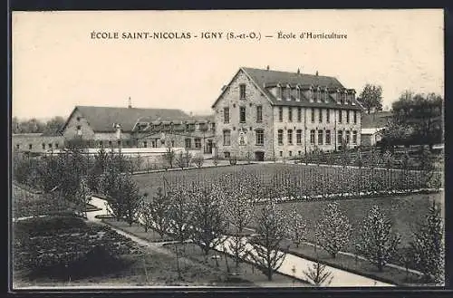
M 90 148 L 178 147 L 212 150 L 212 117 L 175 109 L 76 106 L 63 125 L 66 141 L 82 139 Z

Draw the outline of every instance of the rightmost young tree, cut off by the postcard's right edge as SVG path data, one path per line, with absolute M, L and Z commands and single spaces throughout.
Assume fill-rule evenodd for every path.
M 444 226 L 441 209 L 433 202 L 410 243 L 417 269 L 425 279 L 436 284 L 445 280 Z

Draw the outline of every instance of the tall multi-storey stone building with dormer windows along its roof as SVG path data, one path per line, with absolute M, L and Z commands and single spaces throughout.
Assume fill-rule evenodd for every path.
M 361 143 L 355 91 L 329 76 L 240 68 L 212 105 L 220 157 L 302 156 Z

